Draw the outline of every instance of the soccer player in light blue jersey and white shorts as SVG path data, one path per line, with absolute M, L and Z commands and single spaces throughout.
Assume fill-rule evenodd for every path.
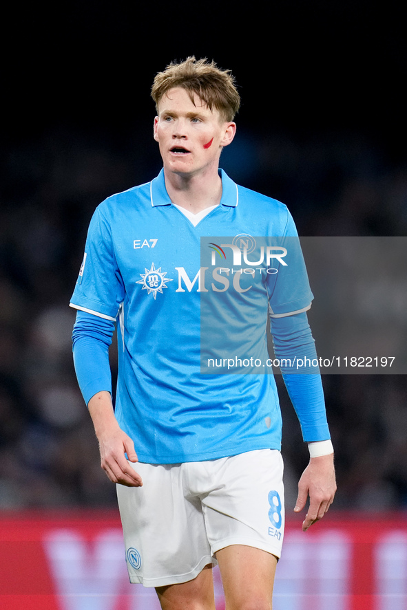
M 96 208 L 71 302 L 76 374 L 101 465 L 118 484 L 131 582 L 155 587 L 163 610 L 214 610 L 218 563 L 229 610 L 269 610 L 284 491 L 275 380 L 258 370 L 267 358 L 267 312 L 310 448 L 294 509 L 309 497 L 303 530 L 335 494 L 320 374 L 293 367 L 294 356 L 315 358 L 306 318 L 313 296 L 289 246 L 297 233 L 286 206 L 219 168 L 240 105 L 230 72 L 189 57 L 156 75 L 152 97 L 163 170 Z M 255 236 L 283 241 L 254 251 Z M 116 321 L 113 407 L 108 347 Z M 241 339 L 246 369 L 202 372 L 206 333 L 215 351 Z M 211 340 L 205 345 L 210 351 Z

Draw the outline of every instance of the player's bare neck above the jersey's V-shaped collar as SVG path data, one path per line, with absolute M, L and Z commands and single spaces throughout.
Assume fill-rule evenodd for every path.
M 216 171 L 197 175 L 180 175 L 165 171 L 165 188 L 171 201 L 192 212 L 217 206 L 222 197 L 222 180 Z

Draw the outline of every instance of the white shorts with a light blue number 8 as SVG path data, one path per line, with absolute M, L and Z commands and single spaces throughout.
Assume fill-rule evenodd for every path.
M 140 488 L 117 486 L 130 582 L 187 582 L 229 545 L 280 557 L 284 488 L 280 451 L 260 449 L 184 464 L 130 466 Z

